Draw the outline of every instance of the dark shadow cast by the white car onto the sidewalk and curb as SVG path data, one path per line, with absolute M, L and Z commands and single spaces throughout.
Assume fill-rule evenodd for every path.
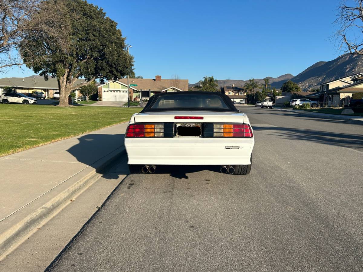
M 78 137 L 79 143 L 73 145 L 67 151 L 77 161 L 95 168 L 96 173 L 102 174 L 102 177 L 116 179 L 118 173 L 107 173 L 108 166 L 103 167 L 102 162 L 106 160 L 107 156 L 123 146 L 124 138 L 125 134 L 86 134 Z M 112 165 L 112 162 L 109 165 Z M 125 171 L 128 171 L 127 166 Z

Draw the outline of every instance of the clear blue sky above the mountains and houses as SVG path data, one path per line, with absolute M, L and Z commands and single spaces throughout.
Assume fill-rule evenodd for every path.
M 195 83 L 297 75 L 341 52 L 329 40 L 338 1 L 89 1 L 118 22 L 135 74 Z M 32 71 L 12 69 L 6 77 Z

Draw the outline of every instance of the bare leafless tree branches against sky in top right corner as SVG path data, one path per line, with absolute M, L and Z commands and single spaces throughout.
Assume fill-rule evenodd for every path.
M 363 0 L 343 1 L 338 7 L 333 38 L 339 50 L 363 55 Z

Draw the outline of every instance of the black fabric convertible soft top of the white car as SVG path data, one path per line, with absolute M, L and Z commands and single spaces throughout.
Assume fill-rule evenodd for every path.
M 180 96 L 182 95 L 182 96 Z M 212 96 L 211 96 L 212 95 Z M 195 101 L 194 99 L 203 100 L 203 97 L 205 96 L 205 102 L 207 100 L 211 100 L 213 96 L 217 96 L 216 101 L 214 102 L 220 102 L 221 100 L 224 102 L 225 105 L 222 105 L 221 107 L 156 107 L 155 102 L 160 102 L 161 99 L 166 100 L 173 100 L 173 96 L 175 97 L 175 100 L 181 99 L 183 102 L 188 102 L 188 98 L 190 98 L 190 101 Z M 185 96 L 185 98 L 184 98 Z M 189 96 L 189 97 L 188 97 Z M 154 107 L 153 107 L 154 106 Z M 191 103 L 191 106 L 192 103 Z M 159 111 L 221 111 L 221 112 L 240 112 L 234 107 L 232 100 L 225 94 L 222 94 L 220 92 L 204 92 L 204 91 L 178 91 L 178 92 L 160 92 L 159 94 L 155 94 L 150 97 L 149 101 L 147 102 L 146 106 L 143 108 L 140 113 L 146 113 L 146 112 L 159 112 Z

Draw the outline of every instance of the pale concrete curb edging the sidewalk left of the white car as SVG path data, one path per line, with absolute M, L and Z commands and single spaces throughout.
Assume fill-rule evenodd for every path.
M 82 193 L 82 191 L 86 190 L 98 180 L 101 176 L 99 172 L 109 166 L 114 160 L 123 156 L 123 154 L 125 154 L 125 146 L 122 145 L 92 165 L 87 166 L 81 172 L 67 180 L 72 185 L 0 234 L 0 260 L 4 259 L 7 254 L 26 240 L 26 238 L 37 230 L 38 226 L 45 224 L 63 209 L 64 206 L 70 203 L 70 199 Z

